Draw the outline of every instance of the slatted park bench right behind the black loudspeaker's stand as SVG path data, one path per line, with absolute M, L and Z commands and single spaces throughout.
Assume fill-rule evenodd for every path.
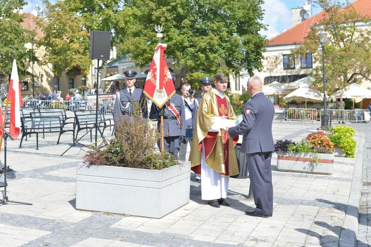
M 102 127 L 102 133 L 104 132 L 104 129 L 114 126 L 114 124 L 111 124 L 110 119 L 105 119 L 104 114 L 98 113 L 97 114 L 97 124 L 99 127 Z M 85 111 L 85 112 L 75 112 L 75 141 L 77 141 L 77 136 L 79 132 L 83 129 L 92 129 L 95 124 L 95 111 Z M 90 141 L 92 141 L 92 132 L 90 132 Z

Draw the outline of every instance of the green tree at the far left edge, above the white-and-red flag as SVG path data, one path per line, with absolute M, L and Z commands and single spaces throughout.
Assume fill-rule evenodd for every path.
M 27 49 L 25 44 L 31 43 L 35 37 L 35 31 L 29 31 L 22 27 L 23 0 L 0 0 L 0 74 L 11 73 L 13 59 L 17 61 L 18 74 L 22 77 L 30 74 L 26 68 L 30 61 L 36 61 L 35 52 Z

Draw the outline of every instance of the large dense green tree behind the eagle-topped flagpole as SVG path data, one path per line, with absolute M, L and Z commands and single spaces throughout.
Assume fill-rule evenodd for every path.
M 266 42 L 259 35 L 263 0 L 126 0 L 115 33 L 120 55 L 131 53 L 137 66 L 148 64 L 163 26 L 166 54 L 184 66 L 189 79 L 240 67 L 262 69 Z M 224 64 L 222 64 L 224 63 Z M 225 66 L 222 66 L 225 65 Z M 198 80 L 197 80 L 198 81 Z

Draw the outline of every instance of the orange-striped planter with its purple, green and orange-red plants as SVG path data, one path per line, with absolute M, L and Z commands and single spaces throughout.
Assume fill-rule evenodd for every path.
M 315 174 L 332 174 L 334 147 L 323 131 L 309 134 L 300 142 L 277 140 L 277 169 Z

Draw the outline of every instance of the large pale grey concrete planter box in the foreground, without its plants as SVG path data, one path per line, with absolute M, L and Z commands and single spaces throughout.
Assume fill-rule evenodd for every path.
M 161 218 L 189 202 L 190 162 L 163 170 L 77 165 L 76 209 Z

